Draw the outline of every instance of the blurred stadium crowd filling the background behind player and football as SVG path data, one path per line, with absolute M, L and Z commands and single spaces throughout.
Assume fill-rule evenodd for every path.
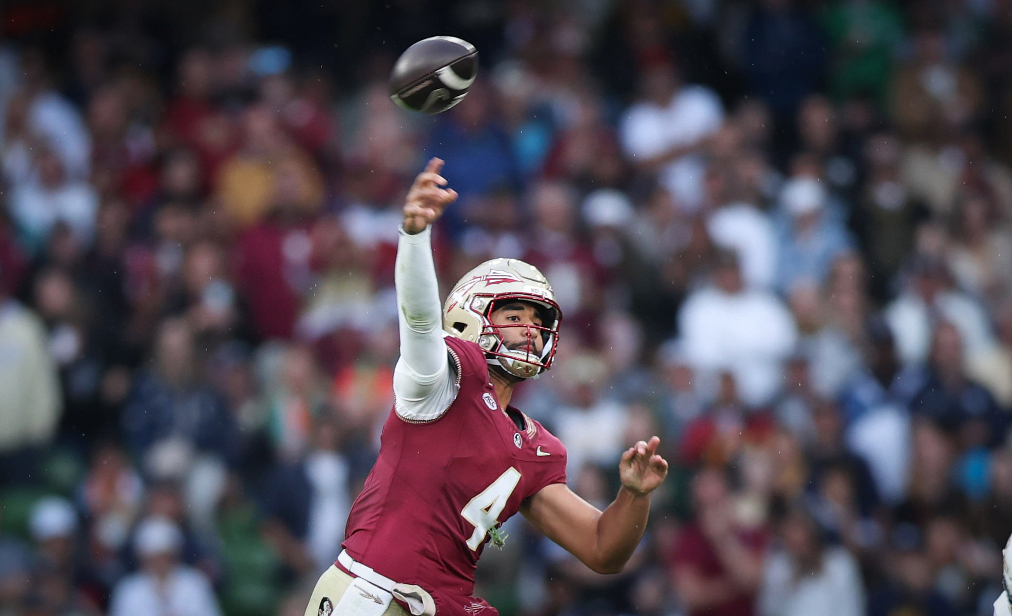
M 481 53 L 451 111 L 386 77 Z M 516 404 L 619 575 L 526 527 L 504 616 L 988 615 L 1012 532 L 1009 0 L 8 0 L 0 614 L 300 616 L 375 458 L 399 210 L 445 292 L 524 258 L 566 318 Z

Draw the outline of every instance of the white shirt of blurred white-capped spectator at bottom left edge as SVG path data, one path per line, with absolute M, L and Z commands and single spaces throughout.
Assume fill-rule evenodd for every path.
M 200 571 L 177 566 L 159 583 L 150 573 L 123 578 L 112 591 L 109 616 L 221 616 L 210 583 Z

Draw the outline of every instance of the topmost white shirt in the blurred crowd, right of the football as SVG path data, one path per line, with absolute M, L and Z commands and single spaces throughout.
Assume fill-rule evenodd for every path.
M 724 123 L 720 97 L 700 85 L 681 87 L 666 106 L 642 100 L 625 112 L 619 137 L 625 154 L 648 159 L 677 146 L 689 146 L 716 133 Z M 665 166 L 661 183 L 679 207 L 694 211 L 702 202 L 706 164 L 686 154 Z

